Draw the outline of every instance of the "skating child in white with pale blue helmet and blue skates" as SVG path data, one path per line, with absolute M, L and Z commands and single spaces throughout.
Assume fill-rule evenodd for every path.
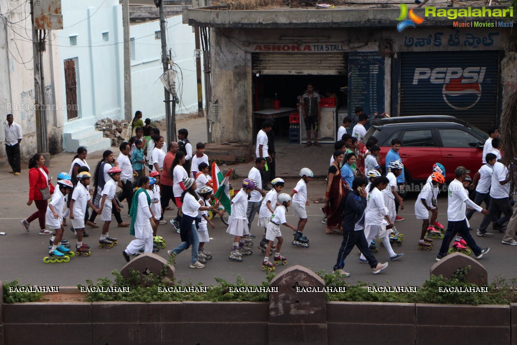
M 307 212 L 305 206 L 310 205 L 310 201 L 307 200 L 307 184 L 311 182 L 314 174 L 309 168 L 302 168 L 300 170 L 300 181 L 296 184 L 290 196 L 293 198 L 293 209 L 294 216 L 300 218 L 298 221 L 297 230 L 294 233 L 294 241 L 291 243 L 293 246 L 309 248 L 309 240 L 307 236 L 303 236 L 303 229 L 307 224 Z

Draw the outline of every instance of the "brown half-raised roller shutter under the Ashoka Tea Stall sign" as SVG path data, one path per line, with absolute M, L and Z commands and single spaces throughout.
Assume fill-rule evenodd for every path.
M 346 74 L 345 53 L 252 53 L 253 73 Z

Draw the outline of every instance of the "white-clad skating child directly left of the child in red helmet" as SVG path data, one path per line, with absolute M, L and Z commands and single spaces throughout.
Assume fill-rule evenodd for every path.
M 75 176 L 78 183 L 73 189 L 72 199 L 70 200 L 70 219 L 72 220 L 72 228 L 77 234 L 77 244 L 75 250 L 80 255 L 84 253 L 85 256 L 90 254 L 90 246 L 83 243 L 84 231 L 84 216 L 86 213 L 86 206 L 90 206 L 94 212 L 99 213 L 99 209 L 92 203 L 88 186 L 92 175 L 89 172 L 81 172 Z

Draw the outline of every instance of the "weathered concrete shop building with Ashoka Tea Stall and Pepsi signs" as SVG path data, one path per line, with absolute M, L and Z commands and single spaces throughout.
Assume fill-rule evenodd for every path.
M 500 26 L 513 25 L 514 17 L 465 12 L 470 17 L 452 20 L 424 9 L 473 6 L 483 14 L 474 1 L 462 2 L 465 7 L 454 2 L 451 8 L 431 0 L 413 11 L 399 3 L 354 3 L 327 9 L 211 5 L 185 10 L 185 22 L 210 29 L 211 102 L 218 102 L 212 141 L 254 141 L 271 113 L 278 118 L 280 137 L 291 137 L 288 115 L 299 109 L 298 96 L 308 83 L 322 96 L 337 96 L 336 105 L 325 100 L 328 115 L 320 124 L 328 142 L 356 106 L 367 114 L 453 115 L 481 128 L 498 122 L 506 98 L 517 89 L 517 34 Z M 280 101 L 279 110 L 272 109 L 273 100 Z M 303 142 L 305 125 L 294 127 Z

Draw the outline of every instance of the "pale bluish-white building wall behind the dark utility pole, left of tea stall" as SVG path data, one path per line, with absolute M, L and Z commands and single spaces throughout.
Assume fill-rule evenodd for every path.
M 181 16 L 169 17 L 166 22 L 167 49 L 172 49 L 173 62 L 177 64 L 175 68 L 178 71 L 176 88 L 180 103 L 176 105 L 176 114 L 197 112 L 195 37 L 192 27 L 183 24 Z M 143 118 L 151 119 L 165 116 L 163 84 L 158 79 L 163 73 L 161 40 L 155 39 L 155 31 L 160 31 L 158 20 L 130 27 L 130 37 L 134 38 L 131 61 L 133 113 L 141 110 Z M 180 71 L 183 71 L 183 76 Z

